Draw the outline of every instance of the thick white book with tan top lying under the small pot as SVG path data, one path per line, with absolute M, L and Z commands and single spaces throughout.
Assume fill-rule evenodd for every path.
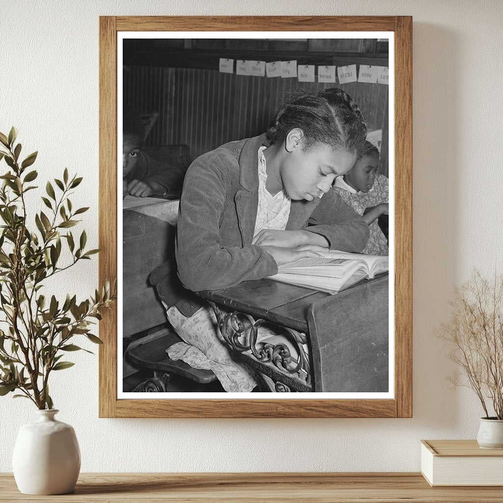
M 432 486 L 503 485 L 503 450 L 480 449 L 476 440 L 422 440 L 421 473 Z

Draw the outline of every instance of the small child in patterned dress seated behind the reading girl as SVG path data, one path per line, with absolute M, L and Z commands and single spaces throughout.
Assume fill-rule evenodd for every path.
M 388 255 L 388 240 L 377 219 L 388 214 L 388 179 L 378 173 L 379 150 L 370 141 L 348 173 L 336 178 L 333 190 L 367 222 L 370 237 L 362 253 Z

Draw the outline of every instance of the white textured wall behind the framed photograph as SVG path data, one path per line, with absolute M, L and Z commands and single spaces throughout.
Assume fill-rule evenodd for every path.
M 474 438 L 481 410 L 435 330 L 452 288 L 474 267 L 501 271 L 501 32 L 498 0 L 441 2 L 4 0 L 0 16 L 0 131 L 39 150 L 44 180 L 64 166 L 85 176 L 74 203 L 98 206 L 99 15 L 412 15 L 413 418 L 399 420 L 122 420 L 98 418 L 97 359 L 54 375 L 59 418 L 74 426 L 83 471 L 416 471 L 420 439 Z M 25 152 L 28 153 L 28 152 Z M 97 261 L 67 277 L 94 291 Z M 70 286 L 71 285 L 71 286 Z M 57 286 L 63 293 L 64 287 Z M 10 471 L 26 400 L 0 398 L 0 471 Z

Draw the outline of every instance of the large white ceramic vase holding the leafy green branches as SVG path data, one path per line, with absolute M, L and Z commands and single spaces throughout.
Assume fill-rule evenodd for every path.
M 80 449 L 70 425 L 56 421 L 56 409 L 37 410 L 38 421 L 18 433 L 12 466 L 24 494 L 66 494 L 80 472 Z

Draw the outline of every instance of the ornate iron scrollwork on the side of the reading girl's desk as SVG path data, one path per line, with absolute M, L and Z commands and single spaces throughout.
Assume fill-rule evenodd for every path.
M 224 312 L 215 302 L 209 301 L 209 303 L 215 312 L 222 337 L 234 351 L 250 352 L 257 361 L 272 363 L 280 371 L 290 375 L 295 374 L 307 385 L 310 385 L 309 357 L 302 347 L 307 343 L 304 333 L 264 318 L 255 319 L 247 313 Z M 283 342 L 275 344 L 267 341 L 258 342 L 259 328 L 265 324 L 279 327 L 286 340 L 295 348 L 298 358 L 292 357 L 289 346 Z M 276 383 L 275 388 L 276 391 L 290 391 L 289 386 L 280 382 Z

